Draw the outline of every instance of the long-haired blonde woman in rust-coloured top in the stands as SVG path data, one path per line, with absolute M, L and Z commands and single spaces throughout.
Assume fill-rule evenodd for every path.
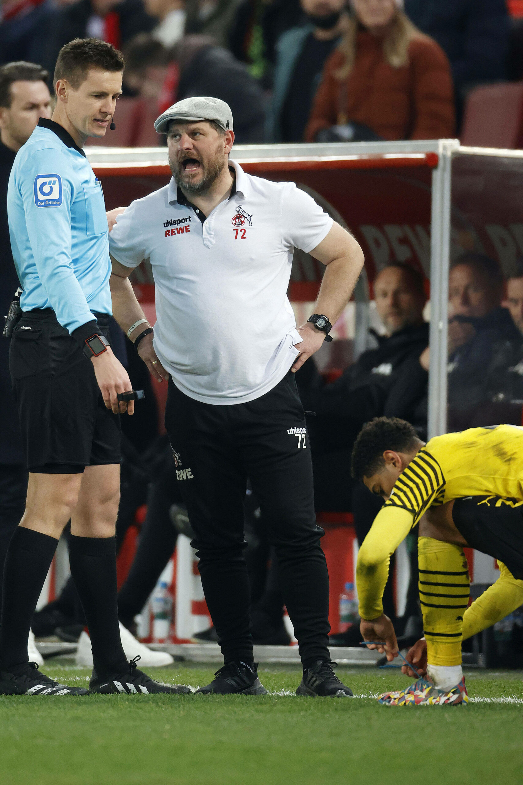
M 411 23 L 403 0 L 352 5 L 349 30 L 324 66 L 305 141 L 348 122 L 387 140 L 452 137 L 452 76 L 443 49 Z

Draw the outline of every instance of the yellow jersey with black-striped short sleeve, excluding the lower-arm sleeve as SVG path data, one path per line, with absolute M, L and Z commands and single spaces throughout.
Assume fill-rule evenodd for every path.
M 418 523 L 427 507 L 491 495 L 523 500 L 523 428 L 494 425 L 435 436 L 400 474 L 386 507 Z

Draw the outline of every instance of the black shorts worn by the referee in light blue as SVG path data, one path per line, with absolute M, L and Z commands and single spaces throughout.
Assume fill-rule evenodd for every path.
M 109 317 L 95 316 L 109 338 Z M 105 407 L 93 363 L 53 309 L 27 311 L 16 324 L 9 371 L 30 472 L 82 473 L 120 462 L 119 414 Z

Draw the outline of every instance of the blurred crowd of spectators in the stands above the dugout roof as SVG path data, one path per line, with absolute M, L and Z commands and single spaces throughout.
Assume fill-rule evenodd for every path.
M 126 57 L 119 145 L 158 144 L 153 115 L 198 94 L 238 143 L 452 137 L 471 89 L 523 78 L 521 0 L 7 0 L 0 64 L 52 75 L 86 36 Z

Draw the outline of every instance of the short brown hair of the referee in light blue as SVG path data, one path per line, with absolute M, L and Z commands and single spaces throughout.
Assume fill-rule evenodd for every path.
M 114 46 L 100 38 L 75 38 L 58 53 L 54 67 L 53 86 L 58 79 L 67 79 L 73 89 L 79 89 L 85 81 L 90 68 L 101 71 L 123 71 L 125 60 L 123 54 Z

